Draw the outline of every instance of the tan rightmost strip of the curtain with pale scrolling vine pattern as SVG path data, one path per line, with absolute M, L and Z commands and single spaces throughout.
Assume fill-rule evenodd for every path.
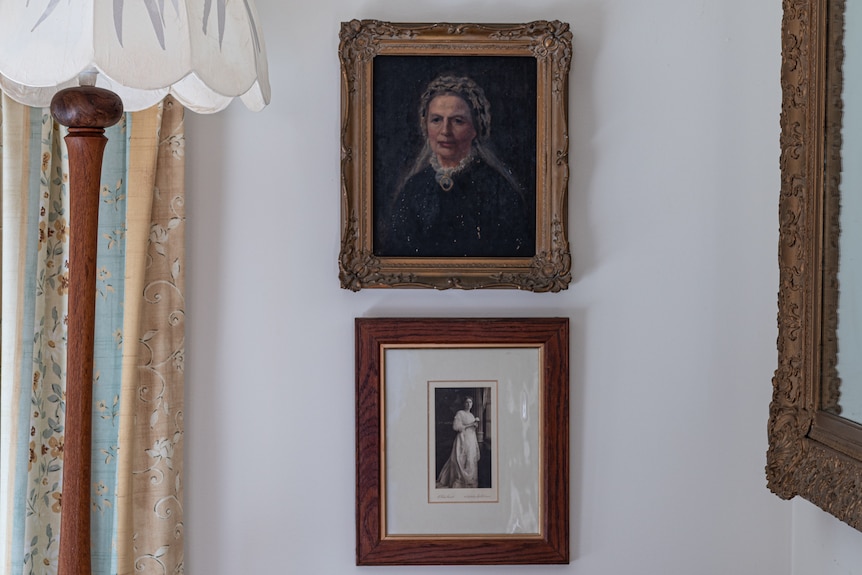
M 139 361 L 134 413 L 133 491 L 147 486 L 136 507 L 135 566 L 143 573 L 182 572 L 185 350 L 185 133 L 183 109 L 165 100 L 147 231 L 137 340 Z M 175 540 L 159 533 L 172 532 Z M 152 569 L 152 571 L 148 570 Z

